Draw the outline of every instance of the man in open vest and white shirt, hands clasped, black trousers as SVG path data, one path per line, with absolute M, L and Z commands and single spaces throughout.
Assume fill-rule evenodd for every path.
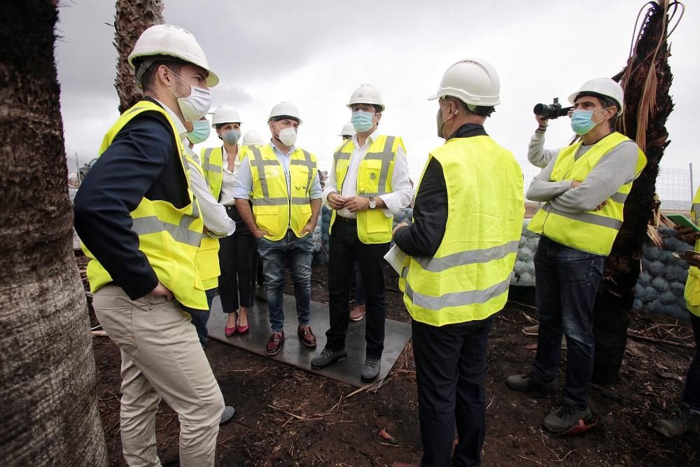
M 346 357 L 350 281 L 357 261 L 365 288 L 365 362 L 360 377 L 379 375 L 384 351 L 384 255 L 391 242 L 393 215 L 411 201 L 406 149 L 401 137 L 380 134 L 384 102 L 369 84 L 353 91 L 347 107 L 356 134 L 333 155 L 333 167 L 323 190 L 333 210 L 330 219 L 328 309 L 330 328 L 321 354 L 311 360 L 325 368 Z

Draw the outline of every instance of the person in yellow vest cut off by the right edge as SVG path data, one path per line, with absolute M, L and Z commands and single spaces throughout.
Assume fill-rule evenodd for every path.
M 690 216 L 700 226 L 700 188 L 695 193 Z M 690 322 L 695 335 L 695 356 L 688 367 L 685 387 L 678 411 L 668 419 L 654 422 L 654 430 L 673 438 L 685 433 L 700 433 L 700 233 L 691 228 L 679 229 L 678 236 L 695 246 L 693 261 L 689 261 L 688 280 L 685 283 L 685 302 L 690 312 Z

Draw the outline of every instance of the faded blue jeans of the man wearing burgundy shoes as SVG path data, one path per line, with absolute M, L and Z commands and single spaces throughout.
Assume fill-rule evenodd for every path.
M 311 315 L 311 260 L 314 258 L 314 236 L 298 238 L 287 230 L 282 239 L 272 241 L 258 239 L 258 253 L 262 258 L 262 275 L 265 277 L 265 298 L 269 311 L 269 326 L 273 333 L 284 328 L 283 290 L 284 267 L 289 263 L 289 272 L 294 283 L 299 326 L 309 324 Z

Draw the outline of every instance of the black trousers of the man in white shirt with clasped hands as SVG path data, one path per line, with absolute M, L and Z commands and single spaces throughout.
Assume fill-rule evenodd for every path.
M 330 235 L 328 258 L 328 308 L 330 328 L 325 332 L 331 350 L 345 348 L 345 336 L 350 321 L 350 283 L 355 273 L 355 261 L 365 286 L 365 355 L 381 358 L 384 351 L 384 255 L 388 243 L 363 244 L 357 236 L 357 221 L 336 216 Z

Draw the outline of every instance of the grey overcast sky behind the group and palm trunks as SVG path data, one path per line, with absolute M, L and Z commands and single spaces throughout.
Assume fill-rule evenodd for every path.
M 72 172 L 75 153 L 80 165 L 94 158 L 118 118 L 114 2 L 62 3 L 56 57 Z M 526 160 L 536 127 L 533 105 L 553 97 L 565 102 L 589 78 L 617 74 L 626 63 L 644 3 L 165 0 L 165 22 L 192 32 L 221 78 L 212 89 L 212 110 L 235 106 L 244 132 L 269 134 L 266 120 L 272 106 L 283 100 L 297 104 L 304 120 L 297 146 L 316 153 L 321 169 L 330 169 L 337 134 L 350 118 L 345 104 L 351 92 L 371 83 L 386 105 L 380 129 L 403 137 L 411 175 L 418 179 L 430 149 L 442 144 L 435 131 L 437 103 L 426 97 L 437 90 L 451 64 L 480 57 L 496 67 L 501 104 L 486 121 L 486 131 L 518 160 Z M 667 125 L 672 142 L 661 166 L 687 170 L 695 162 L 698 186 L 693 115 L 700 102 L 700 11 L 688 4 L 671 36 L 675 110 Z M 546 146 L 564 146 L 572 134 L 568 119 L 554 120 Z M 212 132 L 198 147 L 218 144 Z M 524 172 L 527 178 L 537 173 L 527 166 Z

